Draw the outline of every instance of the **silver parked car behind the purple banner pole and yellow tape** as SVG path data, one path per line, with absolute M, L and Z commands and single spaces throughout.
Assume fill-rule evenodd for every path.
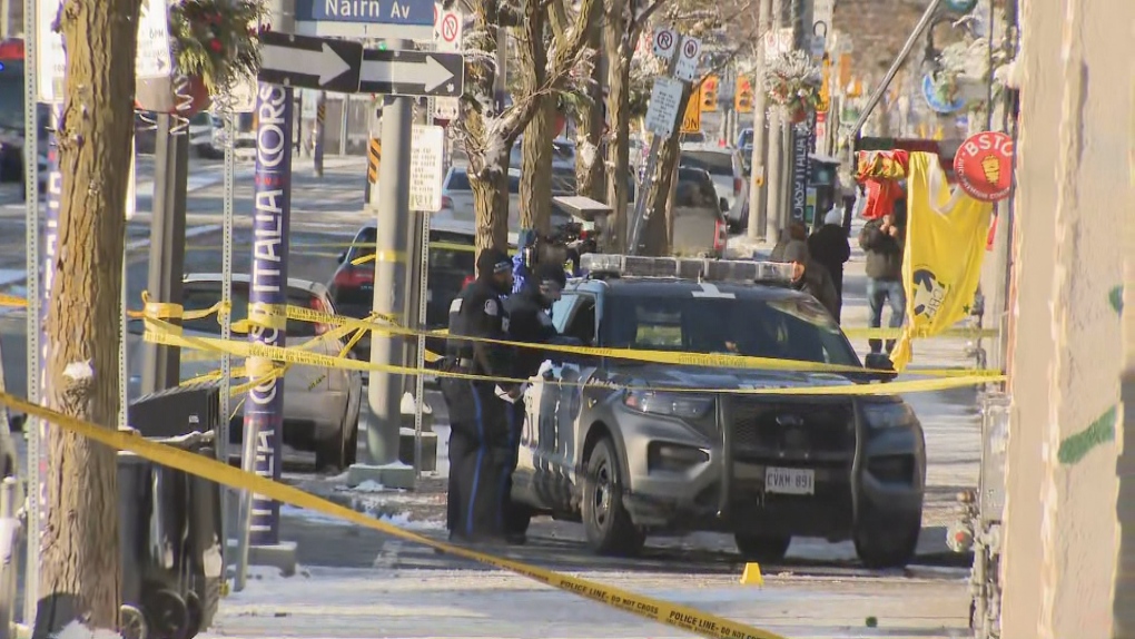
M 220 274 L 192 274 L 183 280 L 183 305 L 186 311 L 203 310 L 221 299 Z M 330 294 L 322 284 L 289 278 L 287 303 L 310 308 L 325 313 L 337 313 Z M 233 276 L 233 322 L 247 319 L 249 276 Z M 288 345 L 295 346 L 326 334 L 328 325 L 305 321 L 287 321 Z M 184 335 L 188 337 L 218 337 L 220 323 L 216 316 L 183 322 Z M 132 320 L 129 343 L 131 396 L 140 395 L 143 361 L 143 331 L 141 320 Z M 312 352 L 338 355 L 345 342 L 322 339 Z M 220 356 L 216 361 L 182 360 L 182 379 L 192 379 L 220 368 Z M 234 364 L 237 365 L 237 364 Z M 342 470 L 355 462 L 359 443 L 359 402 L 362 397 L 362 377 L 358 371 L 322 369 L 294 365 L 284 376 L 284 444 L 296 451 L 314 452 L 319 470 Z M 234 454 L 239 454 L 244 431 L 243 406 L 229 424 L 229 443 L 237 445 Z M 287 460 L 287 455 L 285 455 Z

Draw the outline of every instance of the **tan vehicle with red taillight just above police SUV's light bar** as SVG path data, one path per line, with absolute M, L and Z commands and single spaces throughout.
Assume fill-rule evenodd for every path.
M 708 171 L 679 167 L 671 208 L 675 255 L 716 258 L 724 253 L 728 221 Z

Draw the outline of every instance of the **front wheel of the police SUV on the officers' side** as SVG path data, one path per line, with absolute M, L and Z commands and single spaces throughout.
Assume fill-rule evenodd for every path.
M 614 444 L 600 439 L 587 461 L 582 511 L 587 540 L 603 555 L 636 555 L 646 541 L 623 507 L 621 474 Z

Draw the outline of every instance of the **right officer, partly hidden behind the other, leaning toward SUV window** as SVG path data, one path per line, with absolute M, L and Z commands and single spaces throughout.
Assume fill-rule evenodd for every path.
M 524 283 L 524 287 L 505 301 L 508 310 L 508 340 L 526 344 L 547 344 L 558 337 L 560 331 L 552 323 L 552 304 L 560 300 L 568 278 L 563 266 L 554 262 L 537 262 Z M 543 348 L 518 347 L 513 359 L 513 377 L 528 379 L 537 375 L 546 359 Z M 512 472 L 516 470 L 520 454 L 520 434 L 527 414 L 524 397 L 508 406 L 508 448 L 512 456 L 504 470 L 501 489 L 501 526 L 505 538 L 512 544 L 523 544 L 528 529 L 527 508 L 512 503 Z

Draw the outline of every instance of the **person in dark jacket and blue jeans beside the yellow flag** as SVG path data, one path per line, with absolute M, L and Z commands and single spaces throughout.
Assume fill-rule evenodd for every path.
M 899 202 L 900 207 L 902 202 Z M 901 211 L 896 208 L 896 211 Z M 891 306 L 889 326 L 899 328 L 907 312 L 907 294 L 902 288 L 902 251 L 906 243 L 906 228 L 900 216 L 889 213 L 882 218 L 868 220 L 859 232 L 859 246 L 867 253 L 867 306 L 871 317 L 867 325 L 881 328 L 883 325 L 883 304 Z M 880 354 L 883 340 L 868 339 L 871 353 Z M 886 339 L 886 354 L 894 350 L 894 338 Z

